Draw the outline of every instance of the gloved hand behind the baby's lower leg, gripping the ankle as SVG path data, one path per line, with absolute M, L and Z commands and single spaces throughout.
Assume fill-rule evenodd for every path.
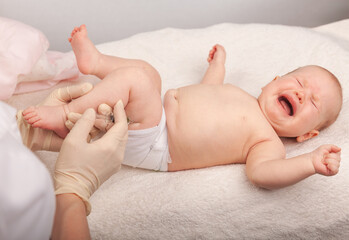
M 39 105 L 55 106 L 66 104 L 73 99 L 79 98 L 93 88 L 90 83 L 71 85 L 54 90 Z M 22 141 L 32 151 L 47 150 L 58 152 L 61 148 L 63 139 L 58 137 L 53 131 L 41 128 L 33 128 L 28 124 L 23 116 L 22 110 L 17 112 L 17 125 L 22 136 Z

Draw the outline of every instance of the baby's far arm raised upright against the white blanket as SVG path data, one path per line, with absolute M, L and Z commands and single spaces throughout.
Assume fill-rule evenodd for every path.
M 221 45 L 215 45 L 208 54 L 209 66 L 201 81 L 202 84 L 223 84 L 225 77 L 225 50 Z

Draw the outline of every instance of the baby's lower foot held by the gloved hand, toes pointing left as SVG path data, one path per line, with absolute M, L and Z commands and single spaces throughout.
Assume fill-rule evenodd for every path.
M 66 112 L 64 105 L 29 107 L 23 111 L 24 119 L 33 127 L 53 130 L 61 138 L 65 138 L 68 129 L 65 127 Z

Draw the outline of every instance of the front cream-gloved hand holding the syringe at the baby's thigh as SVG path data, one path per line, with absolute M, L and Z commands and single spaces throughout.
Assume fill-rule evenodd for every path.
M 93 109 L 87 109 L 65 138 L 55 172 L 55 193 L 74 193 L 91 211 L 89 198 L 97 188 L 120 169 L 127 141 L 127 119 L 122 101 L 114 107 L 115 124 L 100 139 L 88 143 L 96 120 Z

